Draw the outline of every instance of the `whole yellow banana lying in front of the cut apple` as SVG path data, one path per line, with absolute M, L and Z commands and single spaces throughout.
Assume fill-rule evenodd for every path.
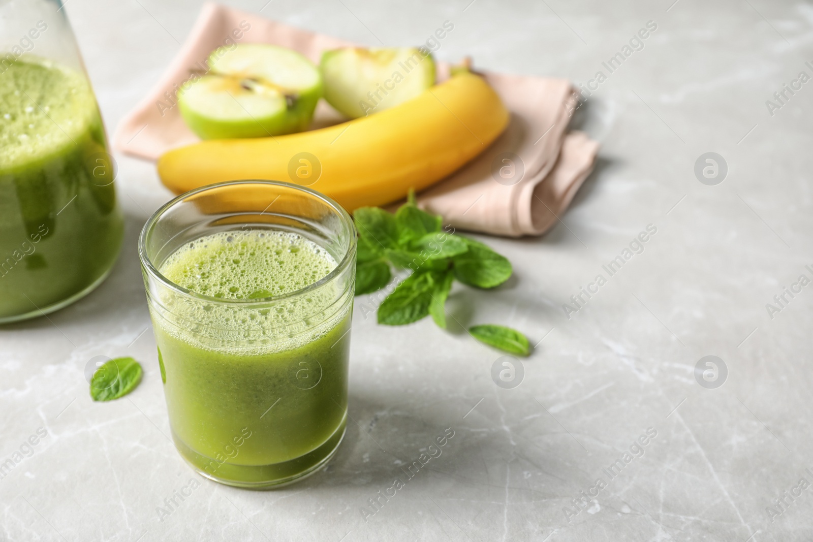
M 285 180 L 347 210 L 382 206 L 480 154 L 509 113 L 480 76 L 463 72 L 408 102 L 344 124 L 286 136 L 202 141 L 159 158 L 163 184 L 184 193 L 225 180 Z

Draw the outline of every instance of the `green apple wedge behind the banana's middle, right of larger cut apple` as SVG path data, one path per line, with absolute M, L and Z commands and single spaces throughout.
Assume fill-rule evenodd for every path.
M 427 49 L 343 47 L 322 54 L 324 99 L 357 119 L 411 100 L 435 84 Z

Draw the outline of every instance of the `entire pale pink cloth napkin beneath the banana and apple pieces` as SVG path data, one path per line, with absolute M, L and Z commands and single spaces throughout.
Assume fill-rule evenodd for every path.
M 176 90 L 193 72 L 205 71 L 211 51 L 241 42 L 289 47 L 315 63 L 324 50 L 353 45 L 207 3 L 158 85 L 116 128 L 115 149 L 155 160 L 167 150 L 199 141 L 180 117 Z M 448 65 L 438 65 L 439 80 L 448 72 Z M 582 133 L 565 136 L 576 105 L 566 80 L 482 75 L 511 111 L 511 123 L 483 154 L 420 194 L 419 205 L 455 228 L 502 236 L 541 234 L 589 175 L 598 144 Z M 311 128 L 343 120 L 320 101 Z

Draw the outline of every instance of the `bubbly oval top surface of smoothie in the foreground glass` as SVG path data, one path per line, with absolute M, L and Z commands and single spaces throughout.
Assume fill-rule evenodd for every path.
M 224 299 L 258 299 L 295 292 L 337 267 L 328 252 L 293 232 L 218 232 L 191 241 L 161 266 L 184 288 Z

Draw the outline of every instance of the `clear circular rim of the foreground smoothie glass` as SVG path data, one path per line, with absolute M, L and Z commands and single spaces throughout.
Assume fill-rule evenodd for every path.
M 180 284 L 176 284 L 172 282 L 172 280 L 167 279 L 167 277 L 165 277 L 158 270 L 158 268 L 153 265 L 152 260 L 146 254 L 147 251 L 146 237 L 148 230 L 150 230 L 154 225 L 157 225 L 156 223 L 158 222 L 159 218 L 166 212 L 167 209 L 174 206 L 176 203 L 182 202 L 186 198 L 193 196 L 194 194 L 197 193 L 202 193 L 207 190 L 223 188 L 224 186 L 236 184 L 266 184 L 272 186 L 281 186 L 288 189 L 298 190 L 303 193 L 308 193 L 311 194 L 311 196 L 315 196 L 316 198 L 320 199 L 320 201 L 324 202 L 328 207 L 336 211 L 337 215 L 339 215 L 341 219 L 341 223 L 345 224 L 352 233 L 352 236 L 350 237 L 350 245 L 348 245 L 347 247 L 347 252 L 344 255 L 344 258 L 341 258 L 341 262 L 338 262 L 337 266 L 333 269 L 333 271 L 330 271 L 327 275 L 324 275 L 324 277 L 322 277 L 320 280 L 317 280 L 315 283 L 308 284 L 307 286 L 299 288 L 298 290 L 293 290 L 293 292 L 270 297 L 254 297 L 251 299 L 228 299 L 224 297 L 207 296 L 205 293 L 194 292 L 189 288 L 184 288 Z M 174 238 L 175 236 L 172 236 L 170 239 Z M 167 286 L 167 288 L 172 289 L 176 293 L 181 293 L 187 297 L 192 297 L 197 301 L 207 301 L 209 303 L 215 303 L 225 306 L 247 306 L 258 303 L 280 301 L 288 299 L 289 297 L 295 297 L 302 295 L 303 293 L 311 292 L 316 288 L 320 288 L 324 284 L 327 284 L 331 280 L 335 279 L 338 275 L 345 271 L 348 266 L 350 266 L 350 262 L 354 261 L 353 248 L 357 244 L 358 244 L 358 235 L 356 234 L 355 231 L 353 219 L 350 217 L 350 214 L 347 212 L 347 210 L 341 205 L 339 205 L 332 197 L 328 197 L 323 193 L 317 192 L 316 190 L 313 189 L 309 189 L 305 186 L 288 183 L 282 180 L 262 180 L 262 179 L 227 180 L 220 183 L 207 184 L 206 186 L 201 186 L 197 189 L 189 190 L 188 192 L 173 197 L 170 201 L 164 203 L 163 206 L 160 206 L 158 210 L 155 210 L 155 212 L 152 215 L 150 215 L 150 218 L 147 219 L 146 223 L 144 223 L 144 227 L 141 228 L 141 233 L 138 235 L 138 258 L 141 260 L 141 267 L 146 269 L 146 271 L 149 272 L 150 275 L 154 276 L 156 280 L 159 280 L 162 284 Z M 147 293 L 149 294 L 149 291 Z

